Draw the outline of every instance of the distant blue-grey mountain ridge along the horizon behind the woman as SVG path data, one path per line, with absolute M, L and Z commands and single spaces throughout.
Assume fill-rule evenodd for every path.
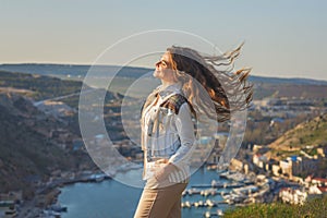
M 20 63 L 0 64 L 0 70 L 9 72 L 32 73 L 40 75 L 71 75 L 84 77 L 88 70 L 93 68 L 94 76 L 125 76 L 140 77 L 150 73 L 154 69 L 119 65 L 78 65 L 78 64 L 52 64 L 52 63 Z M 296 84 L 296 85 L 327 85 L 327 81 L 312 78 L 281 78 L 251 75 L 250 81 L 265 84 Z

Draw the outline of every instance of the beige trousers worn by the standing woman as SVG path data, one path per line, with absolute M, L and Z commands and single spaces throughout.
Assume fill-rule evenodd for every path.
M 180 218 L 181 197 L 187 183 L 149 179 L 141 195 L 134 218 Z

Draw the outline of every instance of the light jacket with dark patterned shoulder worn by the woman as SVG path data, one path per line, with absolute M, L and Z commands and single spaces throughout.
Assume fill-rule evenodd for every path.
M 159 86 L 160 88 L 160 86 Z M 157 98 L 143 110 L 142 148 L 144 179 L 153 177 L 158 159 L 167 159 L 178 170 L 170 182 L 182 182 L 190 177 L 190 155 L 194 148 L 194 119 L 179 83 L 160 90 Z

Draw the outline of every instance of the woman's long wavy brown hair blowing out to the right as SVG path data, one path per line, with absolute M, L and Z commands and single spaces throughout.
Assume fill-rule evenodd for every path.
M 177 81 L 182 82 L 183 93 L 197 114 L 223 122 L 231 112 L 249 107 L 253 96 L 253 85 L 247 82 L 251 69 L 233 72 L 242 46 L 220 56 L 177 46 L 167 49 Z

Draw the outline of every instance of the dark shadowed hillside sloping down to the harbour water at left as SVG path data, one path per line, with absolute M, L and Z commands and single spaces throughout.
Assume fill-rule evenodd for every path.
M 32 193 L 34 184 L 53 170 L 92 166 L 86 155 L 70 152 L 78 135 L 68 123 L 45 114 L 31 99 L 12 92 L 0 93 L 0 192 L 21 189 L 24 194 Z

